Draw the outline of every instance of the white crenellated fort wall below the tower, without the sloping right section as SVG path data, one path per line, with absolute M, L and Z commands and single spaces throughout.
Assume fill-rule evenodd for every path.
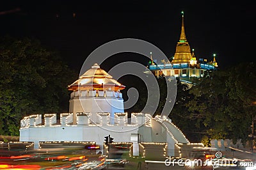
M 138 134 L 139 126 L 145 123 L 143 120 L 150 117 L 134 113 L 128 123 L 127 113 L 115 113 L 115 124 L 111 124 L 109 113 L 99 112 L 95 115 L 99 122 L 95 124 L 90 120 L 91 115 L 77 113 L 76 125 L 72 113 L 60 114 L 60 120 L 56 120 L 56 114 L 44 114 L 44 121 L 41 114 L 28 116 L 20 121 L 20 141 L 33 141 L 35 148 L 40 141 L 94 141 L 102 150 L 105 136 L 111 135 L 115 142 L 131 142 L 131 135 Z

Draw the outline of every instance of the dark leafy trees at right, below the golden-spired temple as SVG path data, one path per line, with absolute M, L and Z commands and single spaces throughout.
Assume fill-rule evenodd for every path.
M 206 137 L 245 141 L 250 134 L 252 116 L 256 115 L 256 105 L 253 105 L 256 101 L 255 75 L 255 63 L 240 63 L 227 70 L 206 72 L 196 86 L 186 92 L 189 93 L 186 104 L 180 104 L 178 91 L 170 117 L 176 123 L 182 111 L 183 121 L 195 124 L 189 126 L 178 121 L 180 128 L 201 134 L 204 141 Z

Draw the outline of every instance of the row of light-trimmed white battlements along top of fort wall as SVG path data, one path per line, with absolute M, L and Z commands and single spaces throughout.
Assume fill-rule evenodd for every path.
M 26 116 L 20 121 L 20 128 L 29 127 L 60 127 L 60 126 L 138 126 L 145 125 L 150 126 L 150 114 L 144 113 L 132 113 L 131 121 L 129 121 L 127 112 L 116 112 L 115 123 L 110 122 L 111 116 L 109 112 L 97 112 L 97 122 L 92 121 L 92 113 L 90 112 L 77 112 L 75 115 L 76 125 L 74 125 L 73 113 L 60 113 L 60 116 L 56 113 L 33 114 Z M 60 120 L 57 120 L 60 118 Z M 42 121 L 43 120 L 43 121 Z

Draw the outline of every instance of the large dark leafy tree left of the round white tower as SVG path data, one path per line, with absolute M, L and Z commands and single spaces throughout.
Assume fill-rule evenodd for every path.
M 67 112 L 67 85 L 75 79 L 57 52 L 38 40 L 0 38 L 0 134 L 19 135 L 28 114 Z

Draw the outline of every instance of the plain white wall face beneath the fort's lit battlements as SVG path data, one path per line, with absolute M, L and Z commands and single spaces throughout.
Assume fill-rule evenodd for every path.
M 127 132 L 115 132 L 116 128 L 124 128 Z M 119 129 L 118 129 L 119 130 Z M 20 129 L 20 141 L 33 141 L 38 148 L 40 141 L 95 141 L 102 150 L 104 137 L 111 135 L 115 142 L 130 142 L 131 134 L 137 134 L 138 128 L 118 126 L 51 126 L 29 127 Z

